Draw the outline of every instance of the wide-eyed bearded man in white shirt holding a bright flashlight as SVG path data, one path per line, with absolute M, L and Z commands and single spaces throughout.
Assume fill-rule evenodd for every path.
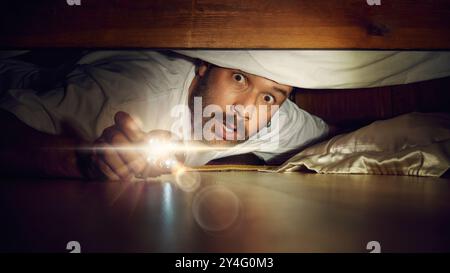
M 49 83 L 40 78 L 48 75 L 43 71 L 1 62 L 3 174 L 129 180 L 161 171 L 149 168 L 159 144 L 145 152 L 123 149 L 152 136 L 196 147 L 185 149 L 183 162 L 199 166 L 246 153 L 269 161 L 328 132 L 321 119 L 288 100 L 293 86 L 245 66 L 174 52 L 98 51 L 85 54 L 62 80 Z

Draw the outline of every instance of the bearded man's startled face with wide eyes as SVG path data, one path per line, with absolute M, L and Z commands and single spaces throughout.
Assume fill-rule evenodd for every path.
M 189 107 L 194 113 L 194 97 L 201 97 L 202 113 L 206 114 L 200 121 L 203 141 L 209 145 L 230 146 L 266 127 L 290 92 L 291 86 L 240 70 L 203 64 L 190 92 Z M 223 114 L 217 115 L 217 109 Z M 193 120 L 194 126 L 196 122 L 199 123 Z M 205 139 L 208 135 L 209 139 Z

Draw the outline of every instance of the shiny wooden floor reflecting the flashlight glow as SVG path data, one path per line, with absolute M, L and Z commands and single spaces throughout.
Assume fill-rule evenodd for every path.
M 0 251 L 450 251 L 450 180 L 204 172 L 135 183 L 2 179 Z M 186 178 L 186 177 L 185 177 Z M 200 181 L 199 187 L 187 186 Z M 181 183 L 181 184 L 180 184 Z M 180 186 L 181 185 L 181 186 Z M 183 190 L 184 189 L 184 190 Z

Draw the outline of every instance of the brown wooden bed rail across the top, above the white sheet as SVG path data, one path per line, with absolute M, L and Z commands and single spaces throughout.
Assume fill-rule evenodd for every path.
M 450 1 L 11 0 L 0 47 L 449 49 Z

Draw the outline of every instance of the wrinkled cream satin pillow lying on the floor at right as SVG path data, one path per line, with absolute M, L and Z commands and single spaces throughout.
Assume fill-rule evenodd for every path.
M 441 176 L 450 168 L 450 114 L 410 113 L 338 135 L 277 171 Z

